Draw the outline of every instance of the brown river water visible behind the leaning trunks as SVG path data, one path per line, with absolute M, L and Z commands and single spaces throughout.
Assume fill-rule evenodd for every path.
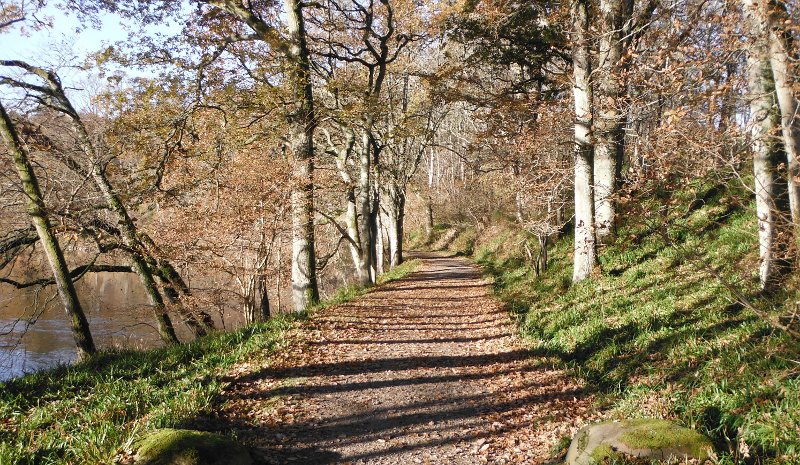
M 90 273 L 76 284 L 98 347 L 161 346 L 136 275 Z M 75 360 L 69 320 L 55 291 L 0 284 L 0 381 Z M 176 330 L 182 340 L 189 337 L 182 325 Z

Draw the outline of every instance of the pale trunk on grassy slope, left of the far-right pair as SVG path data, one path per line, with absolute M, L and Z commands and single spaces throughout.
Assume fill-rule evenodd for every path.
M 787 227 L 787 215 L 780 199 L 781 177 L 777 173 L 782 153 L 773 137 L 777 118 L 773 112 L 773 76 L 767 28 L 764 18 L 758 14 L 755 1 L 744 1 L 748 33 L 747 85 L 758 217 L 758 276 L 761 289 L 770 291 L 777 287 L 785 270 L 791 241 L 787 240 L 790 228 Z

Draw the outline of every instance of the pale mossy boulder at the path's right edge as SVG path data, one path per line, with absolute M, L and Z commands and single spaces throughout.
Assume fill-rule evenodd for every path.
M 567 465 L 591 465 L 625 456 L 650 460 L 711 457 L 711 441 L 695 430 L 658 419 L 595 423 L 581 428 L 567 452 Z

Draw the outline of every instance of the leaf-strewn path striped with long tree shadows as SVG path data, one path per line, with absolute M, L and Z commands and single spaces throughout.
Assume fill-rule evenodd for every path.
M 479 270 L 419 254 L 407 278 L 318 312 L 229 378 L 215 427 L 268 463 L 545 463 L 591 388 L 527 352 Z

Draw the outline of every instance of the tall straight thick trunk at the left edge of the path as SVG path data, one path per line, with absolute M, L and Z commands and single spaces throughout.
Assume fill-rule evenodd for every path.
M 314 100 L 311 89 L 311 61 L 306 44 L 303 5 L 287 1 L 289 31 L 289 85 L 295 98 L 287 117 L 292 178 L 292 300 L 301 312 L 319 300 L 314 246 Z

